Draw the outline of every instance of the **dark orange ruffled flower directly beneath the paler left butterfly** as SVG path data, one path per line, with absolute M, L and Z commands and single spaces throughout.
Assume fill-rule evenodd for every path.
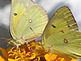
M 31 60 L 40 60 L 40 57 L 38 56 L 38 54 L 36 52 L 38 52 L 37 50 L 37 43 L 33 43 L 31 42 L 30 45 L 21 45 L 18 48 L 12 48 L 8 51 L 9 54 L 9 60 L 14 59 L 16 61 L 31 61 Z M 37 51 L 36 51 L 37 50 Z M 36 51 L 36 52 L 35 52 Z

